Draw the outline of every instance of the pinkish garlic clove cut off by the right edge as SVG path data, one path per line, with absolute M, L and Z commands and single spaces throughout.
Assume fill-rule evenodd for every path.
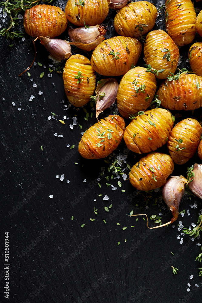
M 192 172 L 194 173 L 194 177 L 190 178 L 193 181 L 188 184 L 189 188 L 194 195 L 202 199 L 202 164 L 195 163 Z

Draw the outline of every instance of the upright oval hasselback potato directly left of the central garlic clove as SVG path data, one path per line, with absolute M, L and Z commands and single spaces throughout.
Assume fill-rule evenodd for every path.
M 65 93 L 76 107 L 90 101 L 95 90 L 95 73 L 91 62 L 82 55 L 72 55 L 66 62 L 63 81 Z

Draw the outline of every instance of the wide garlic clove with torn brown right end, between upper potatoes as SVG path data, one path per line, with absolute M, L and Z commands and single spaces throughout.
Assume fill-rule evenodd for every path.
M 89 28 L 69 28 L 68 34 L 72 41 L 70 42 L 71 45 L 78 46 L 89 52 L 105 39 L 106 29 L 103 25 L 94 25 Z

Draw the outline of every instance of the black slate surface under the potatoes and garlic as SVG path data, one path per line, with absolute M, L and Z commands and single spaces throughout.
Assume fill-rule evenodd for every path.
M 66 2 L 55 1 L 52 4 L 64 9 Z M 196 6 L 200 7 L 200 4 Z M 116 35 L 113 30 L 114 15 L 115 12 L 110 11 L 106 19 L 105 24 L 109 29 L 106 38 Z M 154 29 L 165 29 L 163 18 L 161 15 L 158 17 L 158 26 Z M 67 33 L 61 35 L 61 38 L 67 38 Z M 196 243 L 201 243 L 201 239 L 193 242 L 184 235 L 182 245 L 177 239 L 177 235 L 182 232 L 177 230 L 179 221 L 186 228 L 193 222 L 197 223 L 200 199 L 191 196 L 190 200 L 188 195 L 183 199 L 180 211 L 185 209 L 186 214 L 183 218 L 179 215 L 173 224 L 174 228 L 169 225 L 167 228 L 149 230 L 141 216 L 137 222 L 136 217 L 126 216 L 132 209 L 134 214 L 146 212 L 149 216 L 158 215 L 161 209 L 162 221 L 165 223 L 170 220 L 171 213 L 159 198 L 160 192 L 152 192 L 147 204 L 149 208 L 145 209 L 146 193 L 138 194 L 129 180 L 123 181 L 122 177 L 109 180 L 110 184 L 118 188 L 114 191 L 106 187 L 104 177 L 109 175 L 109 165 L 104 159 L 85 160 L 77 149 L 81 132 L 96 122 L 95 112 L 92 118 L 85 121 L 85 113 L 81 108 L 77 111 L 71 106 L 65 110 L 64 105 L 69 103 L 62 74 L 53 71 L 52 78 L 48 77 L 52 61 L 39 42 L 36 44 L 35 62 L 40 62 L 46 68 L 33 66 L 29 71 L 31 77 L 25 73 L 19 78 L 18 74 L 32 62 L 34 48 L 28 35 L 25 35 L 24 42 L 15 39 L 14 46 L 9 47 L 11 43 L 1 37 L 1 301 L 202 302 L 202 279 L 197 269 L 201 265 L 194 261 L 200 253 L 200 246 Z M 180 49 L 180 68 L 189 66 L 186 62 L 189 47 Z M 72 49 L 73 53 L 82 53 L 79 49 Z M 90 58 L 90 54 L 84 55 Z M 142 58 L 138 64 L 144 63 Z M 62 62 L 61 67 L 64 64 Z M 45 76 L 40 79 L 41 72 L 45 72 Z M 37 84 L 36 88 L 33 88 L 33 83 Z M 39 91 L 43 94 L 38 95 Z M 30 102 L 31 95 L 35 98 Z M 17 106 L 12 105 L 12 102 Z M 91 113 L 90 105 L 86 109 Z M 114 111 L 116 106 L 101 116 Z M 56 114 L 55 120 L 48 120 L 51 112 Z M 201 109 L 194 111 L 193 115 L 191 112 L 183 112 L 176 121 L 190 116 L 201 118 L 201 113 Z M 63 120 L 64 115 L 69 119 L 62 125 L 59 119 Z M 77 125 L 71 130 L 69 124 L 72 124 L 75 115 Z M 78 124 L 82 125 L 82 130 Z M 63 138 L 55 137 L 55 133 L 63 135 Z M 67 144 L 70 147 L 74 144 L 75 148 L 67 148 Z M 168 152 L 166 147 L 161 150 Z M 139 155 L 134 158 L 124 142 L 115 155 L 127 155 L 127 161 L 132 165 L 140 158 Z M 186 165 L 175 165 L 173 175 L 186 176 L 186 167 L 195 162 L 201 163 L 197 155 Z M 103 167 L 104 176 L 101 176 Z M 125 167 L 126 163 L 122 168 Z M 56 178 L 56 175 L 60 177 L 62 174 L 65 175 L 64 181 Z M 98 178 L 101 178 L 101 188 L 97 184 Z M 119 180 L 122 188 L 117 185 Z M 126 191 L 121 192 L 122 189 Z M 102 196 L 99 197 L 99 194 Z M 53 198 L 49 198 L 49 195 L 53 195 Z M 103 201 L 105 195 L 108 195 L 108 201 Z M 152 206 L 155 198 L 158 198 L 157 205 Z M 196 209 L 190 207 L 194 202 L 197 203 Z M 109 207 L 111 204 L 112 208 L 107 213 L 104 206 Z M 94 207 L 98 209 L 97 216 Z M 187 209 L 190 216 L 187 215 Z M 90 221 L 90 218 L 95 221 Z M 106 224 L 103 220 L 106 220 Z M 84 228 L 81 228 L 82 224 L 85 224 Z M 149 224 L 152 226 L 153 222 Z M 131 228 L 131 225 L 135 227 Z M 123 227 L 127 229 L 122 230 Z M 9 232 L 9 299 L 4 297 L 5 232 Z M 179 269 L 175 276 L 171 265 Z M 194 275 L 192 279 L 191 275 Z M 188 287 L 187 283 L 191 286 Z M 190 288 L 189 292 L 187 288 Z

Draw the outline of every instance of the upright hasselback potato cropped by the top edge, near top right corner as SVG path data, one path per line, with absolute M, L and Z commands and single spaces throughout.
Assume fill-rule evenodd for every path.
M 196 12 L 191 0 L 166 0 L 166 31 L 177 46 L 191 43 L 196 32 Z

